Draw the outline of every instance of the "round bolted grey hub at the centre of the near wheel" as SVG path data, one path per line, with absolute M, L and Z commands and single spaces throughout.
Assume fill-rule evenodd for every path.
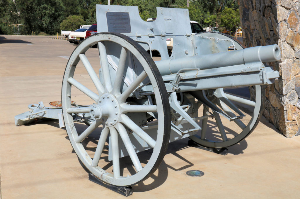
M 98 104 L 91 109 L 90 114 L 95 119 L 107 118 L 105 125 L 113 126 L 119 120 L 119 103 L 113 95 L 103 94 L 99 98 Z

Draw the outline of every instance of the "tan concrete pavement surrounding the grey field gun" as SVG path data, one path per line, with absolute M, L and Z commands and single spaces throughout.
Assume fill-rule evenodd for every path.
M 124 198 L 88 180 L 57 121 L 16 127 L 31 103 L 61 99 L 76 45 L 47 36 L 0 35 L 1 198 Z M 130 198 L 299 198 L 300 136 L 286 138 L 262 118 L 226 156 L 170 143 L 159 169 Z M 202 177 L 189 177 L 191 169 Z

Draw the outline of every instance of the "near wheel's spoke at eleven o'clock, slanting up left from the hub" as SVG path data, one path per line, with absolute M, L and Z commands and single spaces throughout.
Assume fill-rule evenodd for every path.
M 85 54 L 79 54 L 79 57 L 84 65 L 86 71 L 88 72 L 88 75 L 91 77 L 91 80 L 93 81 L 94 85 L 96 86 L 99 95 L 101 96 L 105 90 L 104 90 L 102 83 L 100 82 L 100 79 L 96 75 L 93 67 L 91 66 L 90 62 L 88 61 L 88 58 L 86 58 Z

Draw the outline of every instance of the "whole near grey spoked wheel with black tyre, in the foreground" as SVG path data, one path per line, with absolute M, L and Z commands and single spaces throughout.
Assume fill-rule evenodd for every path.
M 96 49 L 91 48 L 95 45 Z M 86 55 L 89 49 L 100 57 L 99 76 L 96 64 Z M 76 73 L 78 65 L 83 65 L 86 74 Z M 148 97 L 139 104 L 135 92 L 144 82 L 152 88 L 152 102 Z M 80 95 L 87 98 L 85 104 L 72 106 L 71 98 L 80 100 Z M 98 33 L 85 39 L 70 56 L 62 82 L 64 123 L 81 162 L 94 176 L 114 186 L 130 186 L 148 178 L 163 160 L 170 138 L 167 99 L 158 68 L 137 42 L 118 33 Z M 149 135 L 142 128 L 147 120 L 136 122 L 140 114 L 156 115 L 157 134 Z M 89 126 L 76 123 L 76 118 L 84 120 L 86 115 L 90 115 Z M 137 153 L 136 145 L 141 142 L 153 148 L 147 160 Z M 121 151 L 121 145 L 126 151 Z M 122 157 L 124 153 L 129 156 Z

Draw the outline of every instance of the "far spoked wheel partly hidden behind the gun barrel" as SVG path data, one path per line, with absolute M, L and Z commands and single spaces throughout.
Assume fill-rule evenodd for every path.
M 225 34 L 207 32 L 200 33 L 199 35 L 231 39 L 235 44 L 235 49 L 243 49 L 240 42 Z M 244 88 L 242 91 L 245 94 L 244 96 L 243 94 L 239 95 L 239 89 L 241 88 L 219 88 L 205 91 L 207 99 L 230 117 L 239 117 L 241 114 L 244 116 L 229 121 L 221 114 L 202 104 L 202 106 L 200 106 L 200 109 L 202 109 L 201 112 L 203 113 L 202 116 L 213 115 L 213 117 L 205 118 L 200 122 L 202 129 L 198 134 L 190 136 L 189 138 L 191 140 L 208 148 L 220 149 L 239 143 L 254 130 L 259 123 L 263 111 L 262 102 L 265 95 L 263 86 L 252 86 L 249 87 L 248 91 L 248 88 Z M 201 101 L 201 96 L 199 96 L 197 92 L 193 92 L 193 96 Z M 240 114 L 236 111 L 240 111 Z

